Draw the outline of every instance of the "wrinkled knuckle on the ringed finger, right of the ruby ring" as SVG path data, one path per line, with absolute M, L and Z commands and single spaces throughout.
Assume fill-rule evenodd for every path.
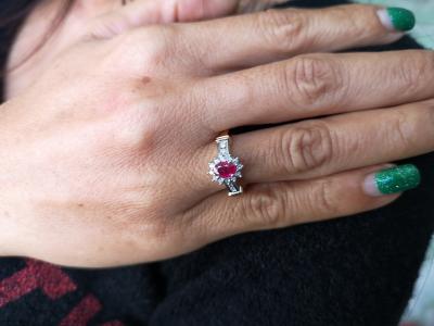
M 278 142 L 281 149 L 276 151 L 278 164 L 289 175 L 319 170 L 333 156 L 333 136 L 326 123 L 290 128 L 282 133 Z

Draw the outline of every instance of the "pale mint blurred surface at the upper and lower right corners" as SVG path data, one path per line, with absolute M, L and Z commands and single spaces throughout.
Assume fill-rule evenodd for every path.
M 359 2 L 403 7 L 412 10 L 417 16 L 418 24 L 411 35 L 421 45 L 434 49 L 434 0 L 359 0 Z M 434 326 L 433 239 L 426 251 L 425 262 L 414 285 L 413 297 L 408 303 L 400 326 Z

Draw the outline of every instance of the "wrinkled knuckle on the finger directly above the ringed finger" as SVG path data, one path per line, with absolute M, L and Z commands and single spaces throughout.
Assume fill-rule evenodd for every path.
M 323 105 L 329 98 L 339 101 L 344 88 L 339 65 L 332 60 L 318 57 L 298 57 L 286 64 L 286 93 L 301 108 Z

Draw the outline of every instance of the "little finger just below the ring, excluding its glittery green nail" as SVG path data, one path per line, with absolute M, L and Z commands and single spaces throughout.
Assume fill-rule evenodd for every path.
M 372 196 L 366 179 L 384 166 L 345 172 L 323 178 L 252 185 L 242 196 L 220 191 L 186 213 L 188 242 L 209 241 L 252 230 L 347 216 L 386 205 L 399 195 Z M 193 239 L 192 239 L 193 238 Z

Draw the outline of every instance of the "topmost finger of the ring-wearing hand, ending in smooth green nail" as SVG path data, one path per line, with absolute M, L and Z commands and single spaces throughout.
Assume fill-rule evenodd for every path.
M 392 42 L 403 34 L 391 30 L 388 12 L 363 4 L 270 10 L 180 25 L 178 35 L 190 52 L 194 45 L 193 67 L 200 63 L 203 71 L 228 71 L 301 53 Z M 406 15 L 414 20 L 410 12 Z

